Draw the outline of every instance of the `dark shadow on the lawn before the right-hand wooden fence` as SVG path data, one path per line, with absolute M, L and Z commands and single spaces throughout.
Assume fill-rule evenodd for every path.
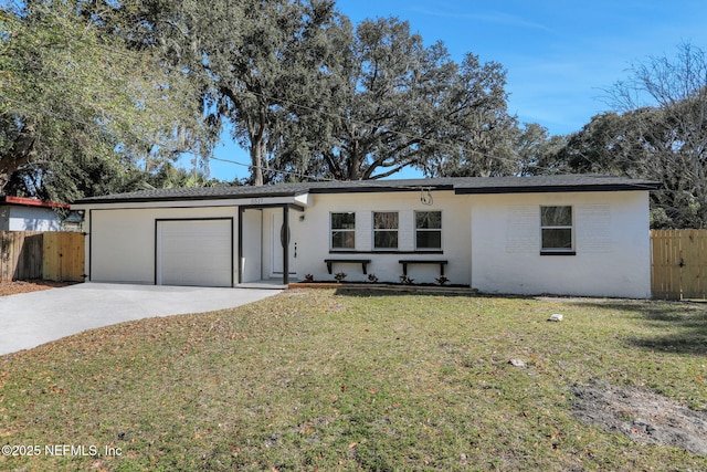
M 637 313 L 658 333 L 655 336 L 629 337 L 634 346 L 664 353 L 707 356 L 707 304 L 690 302 L 602 302 L 599 305 L 623 313 Z

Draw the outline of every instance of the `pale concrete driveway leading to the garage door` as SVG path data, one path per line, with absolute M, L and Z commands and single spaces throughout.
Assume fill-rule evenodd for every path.
M 0 296 L 0 356 L 116 323 L 256 302 L 268 289 L 83 283 Z

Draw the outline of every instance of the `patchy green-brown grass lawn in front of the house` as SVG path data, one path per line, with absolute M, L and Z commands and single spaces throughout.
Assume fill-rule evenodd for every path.
M 706 364 L 697 304 L 289 291 L 0 357 L 0 444 L 42 448 L 0 470 L 707 470 L 571 413 L 592 378 L 707 409 Z

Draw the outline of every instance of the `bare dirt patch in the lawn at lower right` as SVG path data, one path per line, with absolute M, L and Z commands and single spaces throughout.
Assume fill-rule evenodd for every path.
M 572 389 L 573 413 L 589 424 L 636 442 L 707 455 L 707 411 L 694 411 L 657 394 L 599 380 Z

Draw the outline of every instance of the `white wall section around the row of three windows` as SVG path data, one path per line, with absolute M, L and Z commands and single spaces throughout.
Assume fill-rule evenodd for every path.
M 335 264 L 333 274 L 327 273 L 325 259 L 370 259 L 368 272 L 381 282 L 399 282 L 402 275 L 401 259 L 449 260 L 445 276 L 451 283 L 469 283 L 471 230 L 468 197 L 455 196 L 453 191 L 433 191 L 433 206 L 420 202 L 420 192 L 312 195 L 310 207 L 305 210 L 305 221 L 298 227 L 299 258 L 297 274 L 314 275 L 318 281 L 333 281 L 337 272 L 347 273 L 347 281 L 363 282 L 360 264 Z M 331 253 L 329 231 L 331 212 L 356 212 L 356 251 Z M 372 213 L 398 211 L 398 251 L 389 253 L 373 250 Z M 415 211 L 442 211 L 442 254 L 414 252 Z M 434 283 L 440 276 L 439 265 L 410 265 L 409 276 L 415 282 Z

